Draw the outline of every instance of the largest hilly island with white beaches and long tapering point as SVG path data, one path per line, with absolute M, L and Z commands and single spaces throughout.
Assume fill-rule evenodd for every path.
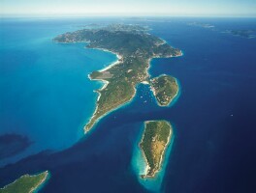
M 182 55 L 179 49 L 148 34 L 147 31 L 148 28 L 139 25 L 116 24 L 68 32 L 53 39 L 62 43 L 86 42 L 88 48 L 102 49 L 117 55 L 118 61 L 110 67 L 89 74 L 91 80 L 102 80 L 105 85 L 97 91 L 99 97 L 96 109 L 90 121 L 84 126 L 85 132 L 104 115 L 130 101 L 135 96 L 139 83 L 150 82 L 147 70 L 152 58 Z M 168 101 L 159 103 L 165 104 Z

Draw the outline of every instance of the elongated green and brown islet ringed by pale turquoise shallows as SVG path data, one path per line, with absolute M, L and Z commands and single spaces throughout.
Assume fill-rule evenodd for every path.
M 145 178 L 154 178 L 161 169 L 163 158 L 173 136 L 173 128 L 167 121 L 149 121 L 144 123 L 144 135 L 140 143 L 146 162 Z

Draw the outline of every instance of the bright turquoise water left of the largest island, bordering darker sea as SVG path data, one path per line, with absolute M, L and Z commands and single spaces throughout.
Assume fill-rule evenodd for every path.
M 75 30 L 58 21 L 3 21 L 0 30 L 0 135 L 26 136 L 32 145 L 0 163 L 44 150 L 63 150 L 83 135 L 101 82 L 87 75 L 116 60 L 84 43 L 58 44 L 57 34 Z

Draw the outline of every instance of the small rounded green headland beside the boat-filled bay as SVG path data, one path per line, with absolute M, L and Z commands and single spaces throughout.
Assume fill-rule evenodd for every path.
M 178 93 L 176 78 L 170 75 L 161 75 L 150 80 L 151 90 L 159 106 L 168 106 Z

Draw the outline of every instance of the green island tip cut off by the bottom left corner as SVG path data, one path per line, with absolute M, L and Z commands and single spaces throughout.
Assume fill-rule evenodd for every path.
M 33 193 L 48 179 L 48 171 L 38 175 L 24 175 L 0 188 L 0 193 Z

